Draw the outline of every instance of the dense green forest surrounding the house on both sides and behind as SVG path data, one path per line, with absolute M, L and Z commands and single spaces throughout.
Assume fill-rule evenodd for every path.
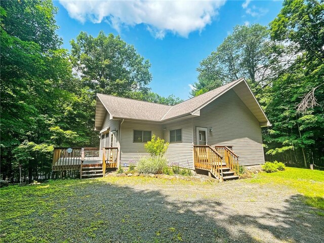
M 62 48 L 52 1 L 3 1 L 1 175 L 49 178 L 55 146 L 98 146 L 96 93 L 176 104 L 151 92 L 150 62 L 119 36 L 81 32 Z M 245 77 L 272 124 L 266 158 L 324 166 L 324 4 L 286 0 L 261 26 L 236 26 L 202 60 L 191 96 Z

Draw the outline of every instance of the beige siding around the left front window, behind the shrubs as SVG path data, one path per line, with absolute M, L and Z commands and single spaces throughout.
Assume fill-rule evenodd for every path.
M 162 138 L 162 126 L 156 123 L 145 123 L 143 121 L 125 120 L 121 124 L 120 134 L 120 166 L 124 163 L 137 165 L 139 159 L 149 156 L 144 142 L 133 142 L 133 131 L 152 131 L 152 135 Z

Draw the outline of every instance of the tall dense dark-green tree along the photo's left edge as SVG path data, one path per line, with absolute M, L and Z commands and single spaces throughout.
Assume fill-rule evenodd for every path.
M 0 8 L 4 179 L 17 178 L 18 163 L 29 181 L 51 168 L 50 129 L 63 126 L 60 107 L 75 87 L 67 51 L 55 33 L 56 11 L 52 1 L 6 1 Z

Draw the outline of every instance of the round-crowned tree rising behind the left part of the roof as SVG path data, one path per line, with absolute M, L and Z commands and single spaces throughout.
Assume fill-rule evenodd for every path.
M 151 64 L 120 36 L 97 37 L 81 32 L 71 41 L 71 62 L 83 85 L 95 93 L 124 96 L 133 91 L 147 92 L 152 79 Z

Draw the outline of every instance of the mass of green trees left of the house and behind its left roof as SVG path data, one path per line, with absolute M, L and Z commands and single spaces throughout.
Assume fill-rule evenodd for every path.
M 6 1 L 0 7 L 3 179 L 17 181 L 18 165 L 29 182 L 49 178 L 55 146 L 97 147 L 96 92 L 181 101 L 150 92 L 149 61 L 119 36 L 81 32 L 68 53 L 56 32 L 57 10 L 49 0 Z

